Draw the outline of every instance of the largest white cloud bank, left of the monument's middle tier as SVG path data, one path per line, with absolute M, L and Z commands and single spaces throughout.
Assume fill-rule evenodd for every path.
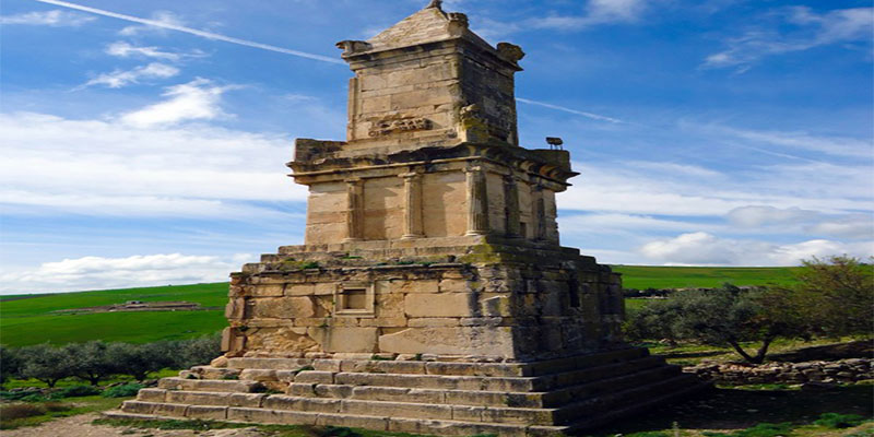
M 19 113 L 0 114 L 0 137 L 8 214 L 275 218 L 307 196 L 280 134 Z

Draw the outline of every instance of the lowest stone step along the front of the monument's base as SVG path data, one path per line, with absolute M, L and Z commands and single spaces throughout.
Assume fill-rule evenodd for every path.
M 406 418 L 361 414 L 317 413 L 268 409 L 156 404 L 126 401 L 121 411 L 103 413 L 113 418 L 211 420 L 235 423 L 277 425 L 346 426 L 392 433 L 439 436 L 497 435 L 506 437 L 545 437 L 562 435 L 567 426 L 499 424 L 451 420 Z

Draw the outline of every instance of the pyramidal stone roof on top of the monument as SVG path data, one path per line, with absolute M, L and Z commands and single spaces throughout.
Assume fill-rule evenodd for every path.
M 468 29 L 468 17 L 464 14 L 446 13 L 440 9 L 439 2 L 433 2 L 368 39 L 371 48 L 367 51 L 383 51 L 460 37 L 494 50 L 492 45 Z

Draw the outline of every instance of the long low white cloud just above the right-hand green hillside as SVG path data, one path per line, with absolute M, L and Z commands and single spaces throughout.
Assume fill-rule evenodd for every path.
M 682 234 L 650 241 L 639 252 L 663 264 L 798 265 L 802 259 L 849 255 L 867 258 L 874 241 L 845 244 L 814 239 L 798 244 L 775 244 L 754 239 L 721 238 L 709 233 Z

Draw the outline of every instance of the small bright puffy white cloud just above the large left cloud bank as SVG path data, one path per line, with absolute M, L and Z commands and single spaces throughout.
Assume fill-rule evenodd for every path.
M 121 121 L 137 128 L 151 128 L 188 120 L 228 117 L 221 108 L 222 94 L 237 87 L 217 86 L 205 79 L 170 86 L 163 94 L 164 97 L 168 97 L 167 99 L 127 113 L 121 116 Z

